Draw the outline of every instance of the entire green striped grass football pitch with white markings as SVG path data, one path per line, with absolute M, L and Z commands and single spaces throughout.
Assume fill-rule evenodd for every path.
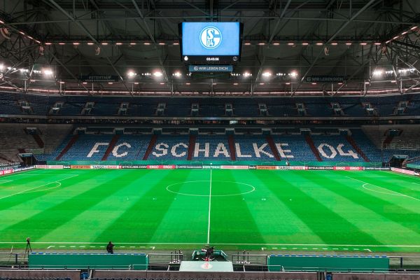
M 44 170 L 0 178 L 0 247 L 420 251 L 420 179 L 392 172 Z

